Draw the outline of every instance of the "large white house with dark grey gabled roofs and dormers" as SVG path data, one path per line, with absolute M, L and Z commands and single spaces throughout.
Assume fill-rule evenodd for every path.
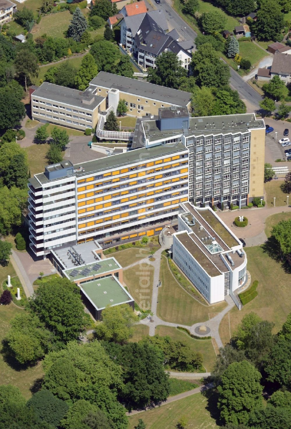
M 175 52 L 182 67 L 188 70 L 191 53 L 177 41 L 174 29 L 169 33 L 162 10 L 127 16 L 121 22 L 121 44 L 129 50 L 137 63 L 144 67 L 155 67 L 156 58 L 162 52 Z

